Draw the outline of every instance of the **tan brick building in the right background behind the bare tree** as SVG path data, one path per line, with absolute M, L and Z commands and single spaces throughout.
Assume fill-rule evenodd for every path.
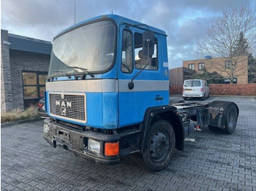
M 202 69 L 205 67 L 207 71 L 221 74 L 225 77 L 225 82 L 229 83 L 230 79 L 228 74 L 225 72 L 230 69 L 231 61 L 227 58 L 211 58 L 211 59 L 200 59 L 192 61 L 183 61 L 183 67 L 187 69 L 195 70 L 195 74 L 202 73 Z M 234 83 L 247 84 L 248 83 L 248 57 L 239 56 L 237 58 L 237 69 L 234 72 L 235 78 Z

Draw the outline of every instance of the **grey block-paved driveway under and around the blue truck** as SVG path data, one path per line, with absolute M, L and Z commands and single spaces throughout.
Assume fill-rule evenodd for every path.
M 42 138 L 42 121 L 1 128 L 1 190 L 256 190 L 256 98 L 204 102 L 214 99 L 238 104 L 236 132 L 203 128 L 157 173 L 128 160 L 96 165 L 53 149 Z

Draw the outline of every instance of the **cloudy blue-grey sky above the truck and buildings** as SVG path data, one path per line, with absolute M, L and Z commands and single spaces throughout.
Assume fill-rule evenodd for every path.
M 1 0 L 1 29 L 52 42 L 74 24 L 75 0 Z M 197 40 L 224 8 L 250 7 L 256 0 L 76 0 L 76 23 L 97 15 L 129 17 L 167 33 L 169 68 L 196 58 Z

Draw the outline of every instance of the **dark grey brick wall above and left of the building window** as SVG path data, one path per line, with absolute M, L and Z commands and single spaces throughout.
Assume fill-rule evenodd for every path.
M 50 55 L 10 50 L 13 108 L 23 109 L 22 71 L 48 71 Z

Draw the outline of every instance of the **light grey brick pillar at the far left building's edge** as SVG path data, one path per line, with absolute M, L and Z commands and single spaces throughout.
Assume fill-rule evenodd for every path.
M 1 112 L 12 110 L 12 81 L 8 31 L 1 30 Z

